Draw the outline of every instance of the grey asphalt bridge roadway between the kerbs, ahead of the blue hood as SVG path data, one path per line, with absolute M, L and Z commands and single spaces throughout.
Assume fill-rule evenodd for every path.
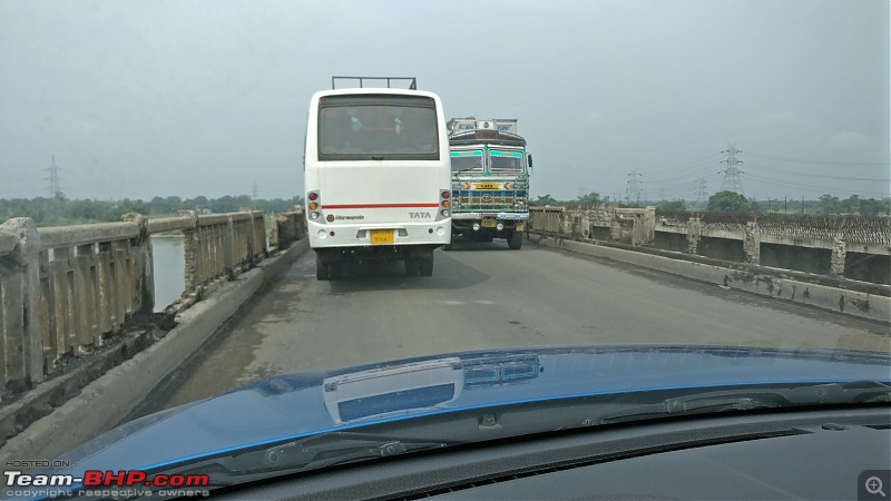
M 719 344 L 891 350 L 887 326 L 527 243 L 438 250 L 432 277 L 400 264 L 317 282 L 298 258 L 140 414 L 265 376 L 491 347 Z

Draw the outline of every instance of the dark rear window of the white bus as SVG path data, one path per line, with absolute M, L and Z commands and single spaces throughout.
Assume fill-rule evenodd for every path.
M 437 109 L 425 97 L 327 97 L 319 110 L 319 159 L 437 160 Z

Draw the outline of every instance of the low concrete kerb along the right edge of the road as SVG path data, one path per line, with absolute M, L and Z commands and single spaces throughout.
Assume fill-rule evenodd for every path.
M 891 297 L 846 291 L 763 273 L 692 263 L 684 259 L 637 253 L 597 244 L 530 235 L 533 242 L 574 253 L 627 263 L 693 278 L 707 284 L 745 291 L 781 301 L 803 304 L 882 323 L 891 321 Z

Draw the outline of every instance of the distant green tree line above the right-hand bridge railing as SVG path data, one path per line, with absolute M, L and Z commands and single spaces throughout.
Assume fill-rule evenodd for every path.
M 530 205 L 550 205 L 559 207 L 644 207 L 647 205 L 656 206 L 662 210 L 703 210 L 703 212 L 721 212 L 721 213 L 745 213 L 745 214 L 761 214 L 761 213 L 790 213 L 790 214 L 858 214 L 865 217 L 877 217 L 882 215 L 891 215 L 891 197 L 883 199 L 875 198 L 861 198 L 859 195 L 852 195 L 845 199 L 832 196 L 830 194 L 822 195 L 817 199 L 776 199 L 771 198 L 766 200 L 755 200 L 754 198 L 746 198 L 744 195 L 735 191 L 718 191 L 708 200 L 695 203 L 683 199 L 674 200 L 656 200 L 656 202 L 642 202 L 640 204 L 623 204 L 621 200 L 610 200 L 608 197 L 601 197 L 597 191 L 591 191 L 587 195 L 579 195 L 574 200 L 558 200 L 550 195 L 539 196 L 531 202 Z

